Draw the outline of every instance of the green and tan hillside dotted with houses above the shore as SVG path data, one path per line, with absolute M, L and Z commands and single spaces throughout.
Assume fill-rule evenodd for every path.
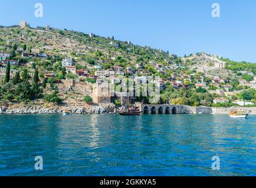
M 143 76 L 160 76 L 159 103 L 232 106 L 237 100 L 254 105 L 256 99 L 256 64 L 205 52 L 178 57 L 114 37 L 28 26 L 0 27 L 0 51 L 0 99 L 5 104 L 29 100 L 41 105 L 87 105 L 84 96 L 93 98 L 94 83 L 110 75 L 137 75 L 141 81 Z M 8 61 L 11 71 L 6 83 Z M 31 93 L 22 93 L 22 87 L 30 88 Z M 220 98 L 229 102 L 215 100 Z M 118 100 L 114 97 L 111 102 L 120 105 L 122 101 Z

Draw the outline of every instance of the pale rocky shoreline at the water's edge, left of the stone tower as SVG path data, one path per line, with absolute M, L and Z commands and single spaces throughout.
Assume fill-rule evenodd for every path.
M 42 106 L 0 106 L 0 114 L 58 114 L 65 111 L 76 114 L 87 113 L 116 113 L 113 104 L 88 105 L 88 106 L 52 106 L 45 108 Z

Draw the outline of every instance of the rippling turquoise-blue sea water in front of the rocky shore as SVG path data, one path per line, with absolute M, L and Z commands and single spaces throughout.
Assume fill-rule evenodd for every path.
M 0 115 L 0 176 L 255 175 L 256 116 Z

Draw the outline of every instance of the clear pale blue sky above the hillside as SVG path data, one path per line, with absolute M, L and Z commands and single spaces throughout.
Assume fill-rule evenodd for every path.
M 34 5 L 44 5 L 35 18 Z M 211 5 L 221 5 L 212 18 Z M 26 20 L 101 36 L 114 36 L 179 56 L 205 51 L 235 61 L 256 62 L 255 0 L 8 0 L 1 1 L 0 25 Z

